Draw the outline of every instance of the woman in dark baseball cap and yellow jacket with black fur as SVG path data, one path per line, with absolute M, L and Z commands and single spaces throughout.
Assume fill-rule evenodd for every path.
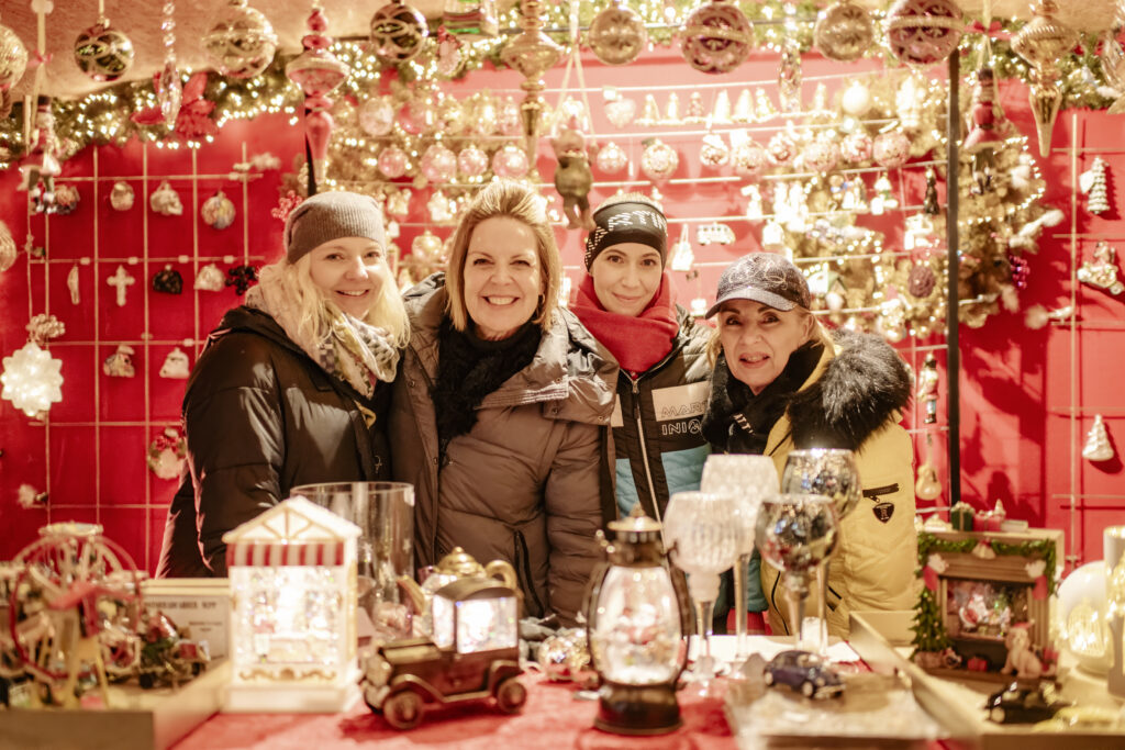
M 828 581 L 829 633 L 846 636 L 853 609 L 914 604 L 914 448 L 899 425 L 910 374 L 880 336 L 829 334 L 810 306 L 782 255 L 750 253 L 723 271 L 708 310 L 718 325 L 703 431 L 717 452 L 772 457 L 778 476 L 794 449 L 855 451 L 864 499 L 842 523 Z M 773 632 L 792 633 L 778 576 L 763 564 L 759 595 Z

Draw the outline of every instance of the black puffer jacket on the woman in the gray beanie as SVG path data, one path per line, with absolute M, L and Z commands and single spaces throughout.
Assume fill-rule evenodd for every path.
M 172 499 L 158 577 L 226 575 L 223 534 L 298 485 L 389 477 L 390 386 L 374 399 L 325 372 L 261 310 L 230 310 L 199 356 L 183 422 L 188 475 Z M 369 428 L 359 408 L 376 421 Z

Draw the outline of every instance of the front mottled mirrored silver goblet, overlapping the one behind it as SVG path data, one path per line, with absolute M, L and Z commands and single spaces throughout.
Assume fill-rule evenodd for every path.
M 782 571 L 792 622 L 798 624 L 798 649 L 803 645 L 800 623 L 804 622 L 809 581 L 836 548 L 838 531 L 836 504 L 824 495 L 775 495 L 758 509 L 758 552 Z

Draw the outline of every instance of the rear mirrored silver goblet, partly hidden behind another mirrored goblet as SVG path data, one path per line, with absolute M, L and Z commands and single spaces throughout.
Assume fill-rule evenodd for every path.
M 840 519 L 846 517 L 863 497 L 855 453 L 844 449 L 813 448 L 791 451 L 782 472 L 781 491 L 827 495 L 836 503 Z M 796 623 L 804 634 L 807 648 L 821 657 L 828 656 L 828 562 L 817 569 L 817 616 Z

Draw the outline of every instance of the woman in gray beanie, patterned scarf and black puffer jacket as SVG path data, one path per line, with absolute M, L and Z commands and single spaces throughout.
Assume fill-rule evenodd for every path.
M 410 329 L 382 213 L 367 196 L 313 196 L 289 214 L 285 252 L 188 380 L 189 471 L 160 577 L 225 576 L 223 534 L 291 487 L 389 477 L 385 417 Z

